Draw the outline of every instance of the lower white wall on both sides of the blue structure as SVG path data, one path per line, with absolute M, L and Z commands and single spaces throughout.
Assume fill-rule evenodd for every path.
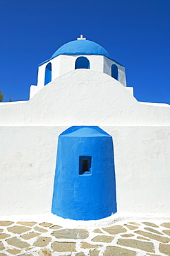
M 0 127 L 0 215 L 51 211 L 63 127 Z M 118 212 L 170 212 L 170 127 L 100 126 L 114 140 Z

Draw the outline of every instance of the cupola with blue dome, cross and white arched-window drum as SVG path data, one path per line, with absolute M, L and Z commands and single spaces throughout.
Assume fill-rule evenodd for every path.
M 126 86 L 125 66 L 111 59 L 103 46 L 81 35 L 77 40 L 63 44 L 50 59 L 39 65 L 37 86 L 32 86 L 30 98 L 56 77 L 77 68 L 106 73 Z

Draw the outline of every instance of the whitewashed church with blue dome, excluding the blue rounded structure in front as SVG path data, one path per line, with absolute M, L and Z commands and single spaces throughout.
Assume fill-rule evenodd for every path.
M 30 100 L 0 104 L 1 216 L 51 212 L 58 138 L 72 126 L 112 136 L 117 212 L 170 214 L 170 106 L 138 102 L 125 66 L 81 36 L 39 65 Z

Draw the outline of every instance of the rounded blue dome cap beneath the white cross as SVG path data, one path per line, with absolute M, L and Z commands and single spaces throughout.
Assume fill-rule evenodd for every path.
M 59 55 L 104 55 L 109 57 L 109 53 L 100 46 L 89 40 L 75 40 L 67 44 L 63 44 L 51 58 Z

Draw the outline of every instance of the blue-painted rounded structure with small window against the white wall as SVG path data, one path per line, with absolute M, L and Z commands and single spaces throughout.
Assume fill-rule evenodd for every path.
M 70 127 L 59 136 L 52 213 L 96 220 L 116 212 L 112 137 L 99 127 Z

